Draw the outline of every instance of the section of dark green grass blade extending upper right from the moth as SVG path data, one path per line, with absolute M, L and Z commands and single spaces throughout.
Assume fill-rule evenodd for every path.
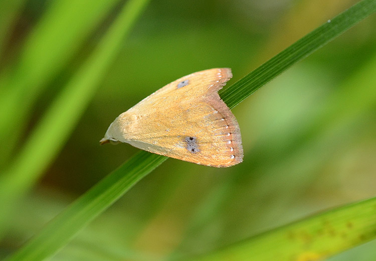
M 220 92 L 230 108 L 235 107 L 260 87 L 293 64 L 307 57 L 347 29 L 376 11 L 375 0 L 363 0 L 304 36 L 272 59 Z M 298 22 L 298 21 L 297 21 Z

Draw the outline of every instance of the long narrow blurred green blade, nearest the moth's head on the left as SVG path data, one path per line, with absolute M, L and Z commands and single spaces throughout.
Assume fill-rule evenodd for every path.
M 0 231 L 15 200 L 36 182 L 68 139 L 147 2 L 133 0 L 124 6 L 98 48 L 45 113 L 11 167 L 0 176 Z

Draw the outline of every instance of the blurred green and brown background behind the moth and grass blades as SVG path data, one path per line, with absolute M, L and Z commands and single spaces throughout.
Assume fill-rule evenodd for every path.
M 66 59 L 51 67 L 51 76 L 40 83 L 43 91 L 22 119 L 26 127 L 16 131 L 21 135 L 15 150 L 1 149 L 11 155 L 2 169 L 12 164 L 44 111 L 125 3 L 112 0 L 103 5 L 97 22 L 62 53 Z M 0 241 L 0 259 L 137 152 L 127 144 L 99 146 L 118 114 L 195 71 L 230 67 L 231 85 L 354 3 L 150 1 L 96 83 L 95 95 L 82 108 L 58 156 L 17 201 Z M 33 30 L 47 23 L 44 18 L 54 4 L 0 1 L 0 78 L 27 75 L 15 76 L 12 70 L 19 66 Z M 57 38 L 75 30 L 71 22 L 72 28 L 55 32 Z M 217 169 L 167 160 L 52 260 L 168 260 L 200 254 L 375 196 L 376 88 L 361 84 L 362 72 L 376 68 L 375 24 L 375 16 L 362 21 L 233 110 L 242 133 L 242 164 Z M 46 46 L 38 48 L 36 54 Z M 0 86 L 0 94 L 11 87 Z M 12 116 L 12 111 L 7 113 Z M 374 260 L 375 248 L 372 241 L 330 259 Z

